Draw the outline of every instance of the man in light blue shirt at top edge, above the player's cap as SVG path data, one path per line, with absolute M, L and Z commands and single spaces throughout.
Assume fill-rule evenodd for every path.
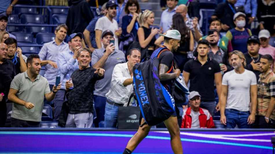
M 162 33 L 168 31 L 172 25 L 172 17 L 176 13 L 179 0 L 166 0 L 168 9 L 164 10 L 160 18 L 160 29 Z

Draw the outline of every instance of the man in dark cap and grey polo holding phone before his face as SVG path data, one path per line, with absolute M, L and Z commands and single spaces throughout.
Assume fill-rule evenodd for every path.
M 125 62 L 125 55 L 122 51 L 115 49 L 113 43 L 114 34 L 110 30 L 103 31 L 101 42 L 103 48 L 94 50 L 92 54 L 91 65 L 93 68 L 103 68 L 105 70 L 104 79 L 96 81 L 93 93 L 93 102 L 96 109 L 97 118 L 94 120 L 95 127 L 98 127 L 100 121 L 104 121 L 106 97 L 110 89 L 113 69 L 116 64 Z

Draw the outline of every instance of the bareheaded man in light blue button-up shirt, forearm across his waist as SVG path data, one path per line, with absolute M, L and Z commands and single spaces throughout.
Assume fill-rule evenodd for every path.
M 44 77 L 49 82 L 50 90 L 52 90 L 57 77 L 57 55 L 62 51 L 69 50 L 68 43 L 64 42 L 67 30 L 68 27 L 65 24 L 58 25 L 54 31 L 56 34 L 55 39 L 45 43 L 38 54 L 42 63 L 41 65 L 46 65 Z

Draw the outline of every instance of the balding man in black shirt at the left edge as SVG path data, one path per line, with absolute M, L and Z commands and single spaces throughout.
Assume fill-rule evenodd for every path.
M 5 43 L 0 43 L 0 70 L 8 73 L 13 79 L 15 74 L 15 66 L 12 61 L 7 60 L 8 46 Z

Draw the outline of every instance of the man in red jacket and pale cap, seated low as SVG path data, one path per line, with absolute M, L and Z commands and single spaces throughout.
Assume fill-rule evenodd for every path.
M 200 108 L 201 95 L 192 91 L 188 95 L 190 107 L 183 110 L 181 128 L 215 128 L 208 110 Z

